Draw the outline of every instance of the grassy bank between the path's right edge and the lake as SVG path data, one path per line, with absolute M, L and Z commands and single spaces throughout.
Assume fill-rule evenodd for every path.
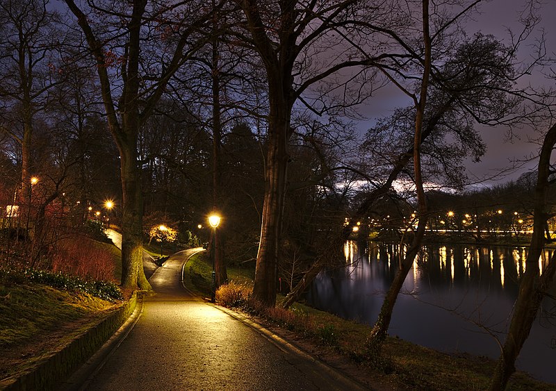
M 210 294 L 211 263 L 206 254 L 193 256 L 186 267 L 186 284 L 200 294 Z M 247 298 L 253 272 L 228 269 L 231 288 L 217 292 L 217 300 L 234 302 L 241 310 L 276 333 L 309 343 L 320 357 L 334 354 L 348 358 L 355 369 L 352 376 L 372 378 L 375 387 L 396 390 L 486 390 L 495 360 L 466 353 L 446 354 L 416 344 L 388 338 L 380 354 L 365 349 L 370 327 L 350 322 L 302 304 L 291 310 L 263 310 Z M 229 299 L 233 297 L 232 299 Z M 279 298 L 280 299 L 280 298 Z M 512 376 L 508 390 L 555 390 L 553 384 L 534 380 L 518 372 Z

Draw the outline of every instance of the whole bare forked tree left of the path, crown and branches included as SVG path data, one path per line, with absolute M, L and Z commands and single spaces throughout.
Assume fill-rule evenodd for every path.
M 210 19 L 211 8 L 199 1 L 170 6 L 147 0 L 65 3 L 95 58 L 108 127 L 120 151 L 122 285 L 150 290 L 142 269 L 138 132 L 172 75 L 206 42 L 210 34 L 199 31 Z M 190 23 L 177 18 L 177 13 L 188 15 Z

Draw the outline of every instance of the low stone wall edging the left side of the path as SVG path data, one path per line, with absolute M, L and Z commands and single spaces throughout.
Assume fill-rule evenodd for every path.
M 60 351 L 42 360 L 29 372 L 0 381 L 0 390 L 42 391 L 56 389 L 56 385 L 68 378 L 79 366 L 85 363 L 124 324 L 135 310 L 136 303 L 137 294 L 134 293 L 124 306 L 106 317 L 97 326 L 79 335 Z

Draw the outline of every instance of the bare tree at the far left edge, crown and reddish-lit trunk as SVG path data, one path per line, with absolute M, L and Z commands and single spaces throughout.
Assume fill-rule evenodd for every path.
M 49 90 L 60 82 L 58 15 L 48 0 L 0 1 L 0 129 L 21 146 L 19 199 L 29 192 L 35 169 L 31 153 L 35 115 L 44 111 Z

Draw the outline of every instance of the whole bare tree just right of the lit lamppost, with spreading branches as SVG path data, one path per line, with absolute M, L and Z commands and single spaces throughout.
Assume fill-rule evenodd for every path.
M 237 35 L 261 57 L 268 79 L 268 132 L 265 198 L 256 260 L 254 297 L 274 306 L 277 265 L 288 181 L 288 142 L 294 132 L 296 103 L 317 115 L 346 114 L 370 94 L 376 60 L 354 56 L 350 45 L 372 42 L 366 31 L 352 28 L 361 18 L 392 20 L 391 9 L 373 1 L 235 1 L 245 15 Z M 364 29 L 363 29 L 364 30 Z M 386 56 L 378 53 L 377 58 Z M 320 58 L 320 60 L 316 60 Z M 357 58 L 357 59 L 354 59 Z M 358 69 L 350 76 L 342 69 Z M 334 97 L 338 98 L 334 100 Z

